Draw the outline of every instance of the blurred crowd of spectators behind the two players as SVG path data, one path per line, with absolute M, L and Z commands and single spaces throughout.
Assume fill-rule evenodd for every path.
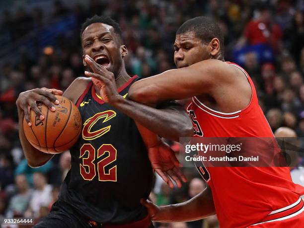
M 304 137 L 304 0 L 11 0 L 0 1 L 0 218 L 47 215 L 67 173 L 69 152 L 30 168 L 18 139 L 15 101 L 36 87 L 65 90 L 84 75 L 79 28 L 87 17 L 119 22 L 129 49 L 130 75 L 174 68 L 175 31 L 187 19 L 210 16 L 225 35 L 225 60 L 252 77 L 273 131 L 286 126 Z M 178 151 L 176 143 L 169 142 Z M 303 142 L 302 142 L 302 146 Z M 299 159 L 301 166 L 302 159 Z M 296 167 L 304 184 L 304 170 Z M 155 178 L 151 199 L 179 203 L 205 188 L 195 168 L 188 183 L 170 189 Z M 300 174 L 299 174 L 300 173 Z M 217 228 L 216 216 L 158 228 Z

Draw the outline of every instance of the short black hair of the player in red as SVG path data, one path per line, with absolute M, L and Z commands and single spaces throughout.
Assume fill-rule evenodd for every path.
M 210 17 L 198 16 L 187 20 L 178 28 L 176 35 L 186 32 L 194 32 L 204 44 L 209 43 L 213 38 L 218 38 L 221 53 L 224 55 L 224 35 L 219 25 Z

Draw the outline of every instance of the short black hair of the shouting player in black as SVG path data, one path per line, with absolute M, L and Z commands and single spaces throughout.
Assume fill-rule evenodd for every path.
M 84 29 L 89 26 L 90 24 L 94 24 L 94 23 L 103 23 L 103 24 L 107 24 L 110 25 L 114 28 L 114 32 L 118 35 L 118 38 L 120 39 L 120 41 L 122 41 L 122 31 L 120 29 L 119 24 L 113 20 L 111 17 L 108 16 L 98 16 L 98 15 L 94 15 L 90 18 L 87 18 L 82 24 L 81 24 L 81 28 L 80 28 L 80 40 L 81 40 L 81 36 L 82 33 L 84 31 Z

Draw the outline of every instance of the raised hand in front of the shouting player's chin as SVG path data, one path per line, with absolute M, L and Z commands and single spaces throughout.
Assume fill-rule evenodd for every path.
M 117 92 L 114 74 L 103 66 L 96 63 L 88 55 L 85 56 L 84 61 L 89 65 L 92 72 L 85 71 L 85 76 L 92 77 L 94 85 L 96 85 L 100 91 L 102 100 L 106 103 L 115 103 L 123 97 Z

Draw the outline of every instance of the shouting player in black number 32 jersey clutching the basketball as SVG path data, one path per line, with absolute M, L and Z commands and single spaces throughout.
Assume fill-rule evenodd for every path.
M 191 121 L 176 104 L 155 109 L 127 99 L 129 87 L 139 77 L 126 73 L 123 58 L 128 51 L 122 45 L 119 25 L 112 19 L 88 19 L 82 26 L 81 46 L 86 76 L 107 74 L 112 86 L 107 86 L 110 92 L 101 93 L 104 84 L 99 80 L 80 77 L 63 93 L 78 106 L 82 134 L 70 150 L 71 169 L 59 200 L 35 228 L 149 228 L 151 221 L 140 200 L 150 194 L 152 168 L 170 186 L 170 177 L 178 186 L 185 181 L 175 155 L 157 135 L 172 140 L 191 136 Z M 54 94 L 62 91 L 33 89 L 20 93 L 16 102 L 19 137 L 32 167 L 43 165 L 53 155 L 29 144 L 23 117 L 31 125 L 30 107 L 43 120 L 36 101 L 54 111 Z

